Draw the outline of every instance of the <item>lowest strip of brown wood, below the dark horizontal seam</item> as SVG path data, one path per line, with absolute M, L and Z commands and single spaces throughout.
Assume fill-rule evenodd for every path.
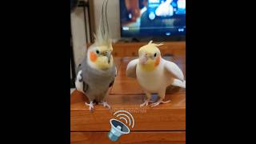
M 169 144 L 185 144 L 186 133 L 184 131 L 170 132 L 133 132 L 130 134 L 122 135 L 117 142 L 112 142 L 107 137 L 108 132 L 72 132 L 71 142 L 72 144 L 84 144 L 84 143 L 126 143 L 126 144 L 137 144 L 137 143 L 169 143 Z

